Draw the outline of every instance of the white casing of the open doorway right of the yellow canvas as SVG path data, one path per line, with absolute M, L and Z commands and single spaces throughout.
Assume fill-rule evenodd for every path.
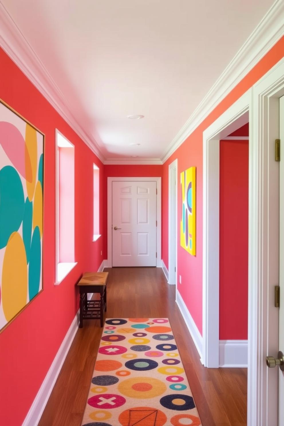
M 201 361 L 205 367 L 211 368 L 219 367 L 219 142 L 248 121 L 251 126 L 250 101 L 249 90 L 203 132 L 203 344 Z

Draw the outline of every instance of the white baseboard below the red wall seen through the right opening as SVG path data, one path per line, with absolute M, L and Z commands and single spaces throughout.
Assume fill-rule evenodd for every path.
M 247 367 L 247 340 L 219 340 L 219 367 Z

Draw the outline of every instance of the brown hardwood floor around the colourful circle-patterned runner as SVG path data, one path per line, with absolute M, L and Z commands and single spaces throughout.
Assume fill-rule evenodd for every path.
M 247 369 L 204 368 L 161 268 L 107 268 L 108 318 L 168 317 L 203 426 L 247 425 Z M 39 426 L 80 426 L 100 343 L 100 320 L 84 321 Z M 119 425 L 113 425 L 119 426 Z M 167 425 L 165 425 L 167 426 Z

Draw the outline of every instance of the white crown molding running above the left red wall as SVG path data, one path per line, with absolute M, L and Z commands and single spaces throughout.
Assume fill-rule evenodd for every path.
M 69 102 L 1 2 L 0 46 L 103 163 L 105 158 L 98 144 L 77 122 Z

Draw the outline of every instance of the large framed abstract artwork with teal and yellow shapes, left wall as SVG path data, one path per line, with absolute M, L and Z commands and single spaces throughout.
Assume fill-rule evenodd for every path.
M 0 101 L 0 331 L 43 289 L 43 146 Z

